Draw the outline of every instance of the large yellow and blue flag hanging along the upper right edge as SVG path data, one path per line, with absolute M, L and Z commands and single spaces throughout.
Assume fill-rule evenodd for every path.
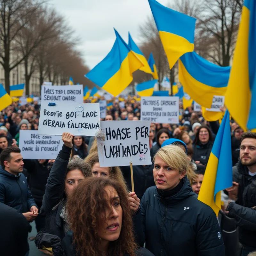
M 256 128 L 256 2 L 245 0 L 225 104 L 244 131 Z

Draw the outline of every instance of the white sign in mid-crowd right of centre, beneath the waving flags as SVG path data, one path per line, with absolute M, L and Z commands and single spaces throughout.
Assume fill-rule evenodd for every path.
M 141 97 L 140 120 L 179 124 L 179 97 Z

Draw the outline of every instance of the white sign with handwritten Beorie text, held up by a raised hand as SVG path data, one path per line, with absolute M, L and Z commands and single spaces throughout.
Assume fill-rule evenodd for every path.
M 70 132 L 75 136 L 95 136 L 99 130 L 99 103 L 61 102 L 55 106 L 48 106 L 48 102 L 42 102 L 38 134 L 62 135 L 63 132 Z

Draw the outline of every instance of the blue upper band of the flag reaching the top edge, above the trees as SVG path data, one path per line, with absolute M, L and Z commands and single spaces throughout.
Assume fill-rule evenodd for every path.
M 148 0 L 156 26 L 159 31 L 169 32 L 184 37 L 194 44 L 196 19 Z

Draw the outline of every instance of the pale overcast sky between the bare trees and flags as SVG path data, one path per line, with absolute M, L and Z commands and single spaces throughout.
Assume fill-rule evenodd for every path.
M 158 0 L 167 5 L 171 0 Z M 79 50 L 93 68 L 111 50 L 116 28 L 128 43 L 128 31 L 140 43 L 139 26 L 151 15 L 148 0 L 51 0 L 49 2 L 81 38 Z

